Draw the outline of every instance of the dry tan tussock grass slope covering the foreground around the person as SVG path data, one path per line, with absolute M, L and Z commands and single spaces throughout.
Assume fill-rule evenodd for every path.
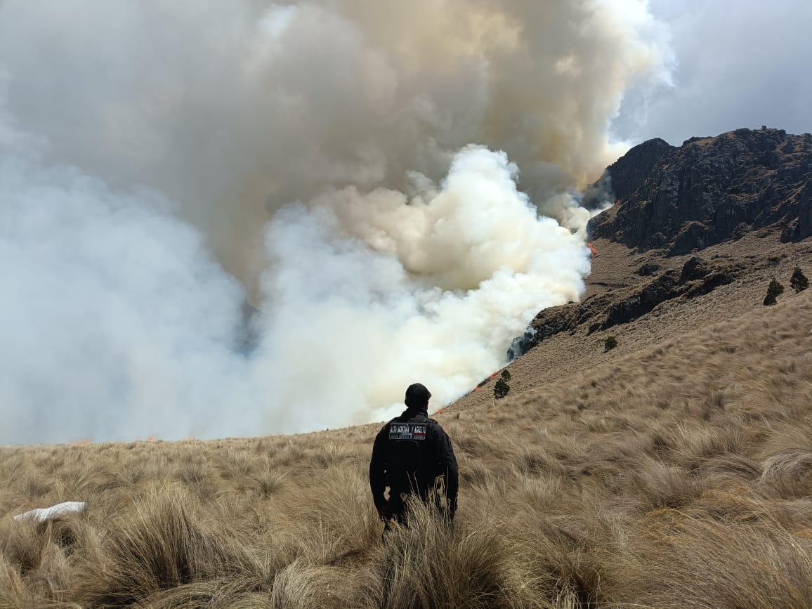
M 382 544 L 378 425 L 4 447 L 0 606 L 812 607 L 812 290 L 788 285 L 808 248 L 557 335 L 511 365 L 505 399 L 486 386 L 438 414 L 453 530 L 418 507 Z M 628 277 L 598 249 L 595 283 Z M 763 307 L 772 274 L 787 292 Z M 88 508 L 11 518 L 68 500 Z

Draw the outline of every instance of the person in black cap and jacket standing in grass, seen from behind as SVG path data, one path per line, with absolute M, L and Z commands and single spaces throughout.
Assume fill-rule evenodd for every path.
M 459 486 L 451 440 L 437 421 L 429 418 L 431 393 L 419 382 L 406 390 L 406 410 L 395 417 L 375 437 L 372 459 L 369 461 L 369 487 L 378 516 L 387 523 L 391 519 L 405 524 L 405 502 L 409 495 L 432 501 L 449 520 L 454 520 Z M 433 492 L 442 479 L 446 507 L 442 508 L 438 493 Z M 389 499 L 385 498 L 389 487 Z

